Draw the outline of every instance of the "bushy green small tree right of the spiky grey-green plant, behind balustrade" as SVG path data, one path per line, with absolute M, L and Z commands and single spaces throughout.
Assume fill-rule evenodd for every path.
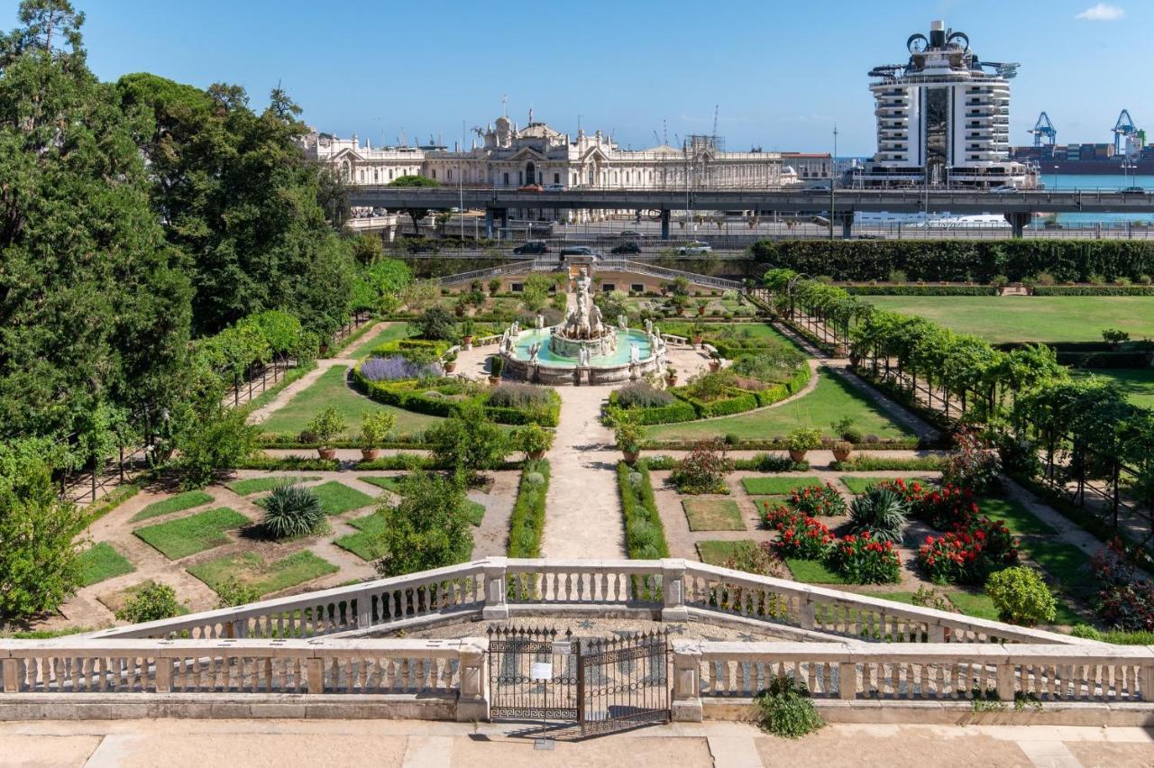
M 400 500 L 377 514 L 384 518 L 381 543 L 388 551 L 376 564 L 381 575 L 463 563 L 473 551 L 465 492 L 452 479 L 415 470 L 400 481 Z

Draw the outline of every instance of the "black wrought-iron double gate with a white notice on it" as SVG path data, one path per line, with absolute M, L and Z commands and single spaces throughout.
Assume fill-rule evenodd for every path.
M 554 721 L 580 736 L 669 720 L 665 632 L 576 639 L 570 631 L 489 627 L 494 721 Z

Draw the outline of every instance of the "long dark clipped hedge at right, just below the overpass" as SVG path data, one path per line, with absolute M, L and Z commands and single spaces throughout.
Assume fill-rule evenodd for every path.
M 763 240 L 751 253 L 764 268 L 854 283 L 885 280 L 893 270 L 931 283 L 989 283 L 997 274 L 1018 281 L 1039 272 L 1059 283 L 1154 274 L 1154 242 L 1145 240 Z

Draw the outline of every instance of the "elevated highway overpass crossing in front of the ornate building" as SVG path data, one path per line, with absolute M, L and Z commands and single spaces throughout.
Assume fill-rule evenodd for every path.
M 668 238 L 670 211 L 758 211 L 777 213 L 829 214 L 832 210 L 848 233 L 857 211 L 917 213 L 1002 213 L 1014 236 L 1035 213 L 1137 213 L 1154 216 L 1154 195 L 1116 191 L 1011 191 L 989 193 L 969 189 L 922 191 L 916 189 L 606 189 L 577 188 L 557 191 L 523 191 L 492 187 L 353 187 L 349 193 L 354 206 L 398 210 L 426 208 L 484 209 L 486 231 L 492 234 L 493 218 L 508 219 L 509 209 L 595 209 L 661 212 L 661 236 Z

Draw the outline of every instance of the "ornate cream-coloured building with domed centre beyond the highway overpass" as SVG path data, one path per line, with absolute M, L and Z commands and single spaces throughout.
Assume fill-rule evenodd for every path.
M 474 129 L 469 150 L 443 146 L 361 145 L 351 140 L 313 133 L 305 138 L 306 155 L 338 167 L 353 185 L 387 185 L 420 174 L 443 185 L 523 187 L 549 189 L 614 187 L 632 189 L 710 189 L 722 187 L 772 188 L 795 182 L 782 174 L 778 152 L 728 152 L 712 136 L 687 138 L 681 149 L 659 145 L 644 150 L 621 149 L 600 130 L 578 130 L 576 138 L 544 122 L 530 111 L 524 128 L 497 118 L 486 129 Z M 574 218 L 579 212 L 537 212 L 535 218 Z

